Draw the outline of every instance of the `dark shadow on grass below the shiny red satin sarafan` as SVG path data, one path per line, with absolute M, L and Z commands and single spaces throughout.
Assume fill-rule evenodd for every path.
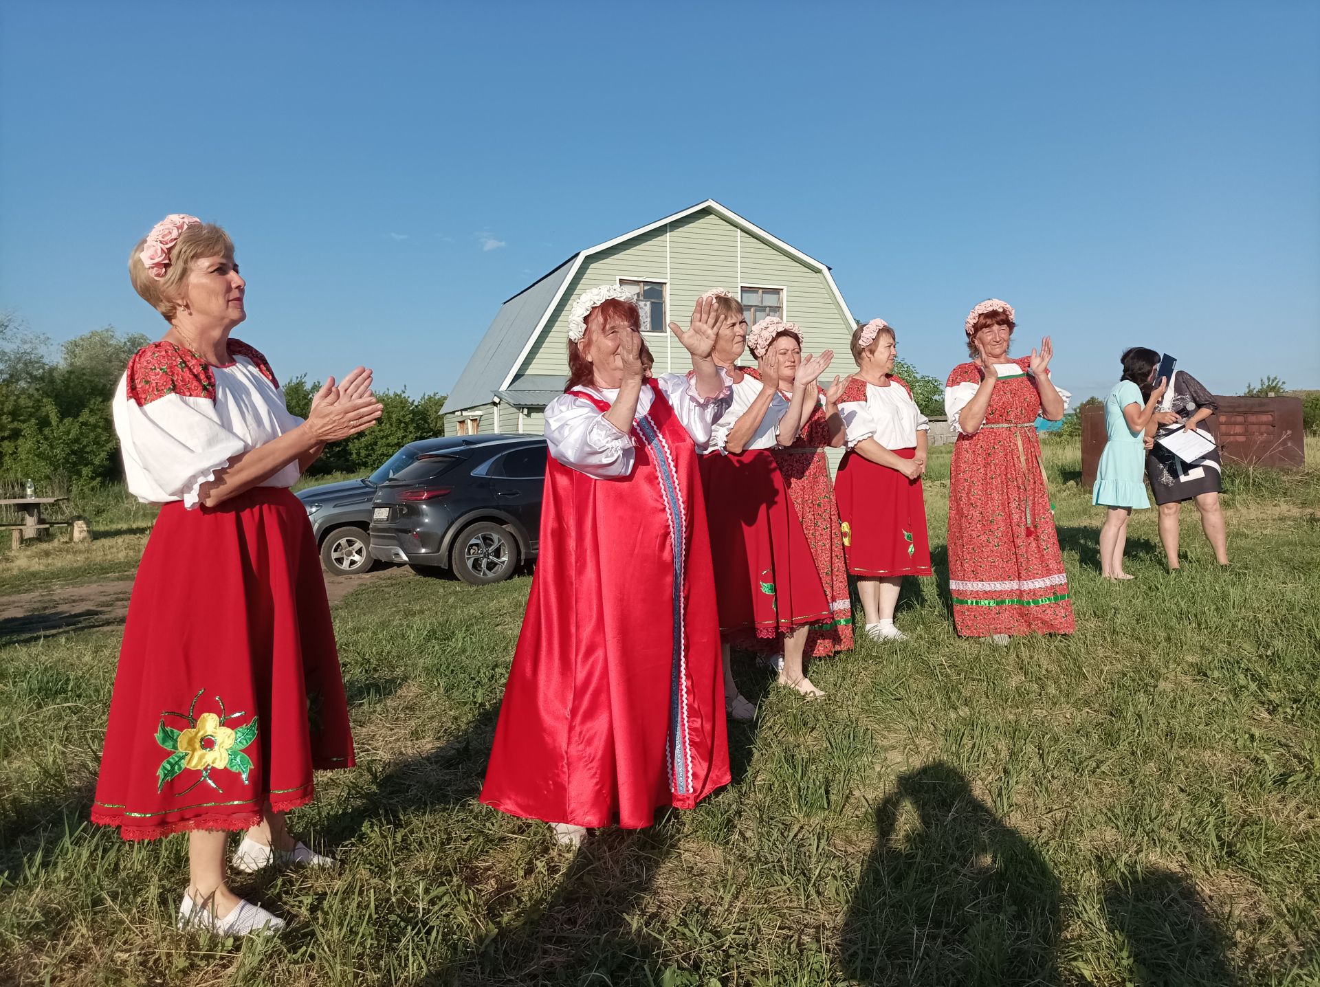
M 433 971 L 426 984 L 661 983 L 655 942 L 627 920 L 652 889 L 681 826 L 593 830 L 544 905 L 482 947 Z

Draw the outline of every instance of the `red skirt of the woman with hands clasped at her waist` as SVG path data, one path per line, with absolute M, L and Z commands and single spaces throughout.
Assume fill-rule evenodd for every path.
M 916 455 L 915 449 L 891 451 L 903 459 Z M 931 575 L 920 479 L 849 451 L 834 478 L 834 496 L 849 573 L 873 579 Z

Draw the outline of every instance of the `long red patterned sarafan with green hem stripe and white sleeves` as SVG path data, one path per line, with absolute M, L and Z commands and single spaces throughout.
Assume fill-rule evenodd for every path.
M 949 476 L 949 591 L 964 637 L 1072 633 L 1049 491 L 1040 464 L 1036 417 L 1040 395 L 1027 373 L 1031 359 L 999 371 L 985 424 L 960 431 Z M 949 421 L 981 384 L 974 363 L 953 368 L 945 391 Z

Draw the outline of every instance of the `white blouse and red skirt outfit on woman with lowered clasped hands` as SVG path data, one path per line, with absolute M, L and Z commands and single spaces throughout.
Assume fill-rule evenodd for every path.
M 871 462 L 855 451 L 875 439 L 903 459 L 916 455 L 917 431 L 929 421 L 912 400 L 907 381 L 888 375 L 879 387 L 853 377 L 838 409 L 847 428 L 847 453 L 838 466 L 834 490 L 843 521 L 847 571 L 871 579 L 931 575 L 931 541 L 925 526 L 921 479 Z

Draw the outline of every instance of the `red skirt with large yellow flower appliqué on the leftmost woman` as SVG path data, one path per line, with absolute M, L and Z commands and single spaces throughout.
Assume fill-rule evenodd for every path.
M 256 487 L 165 504 L 133 582 L 91 818 L 124 839 L 238 830 L 354 764 L 306 509 Z

